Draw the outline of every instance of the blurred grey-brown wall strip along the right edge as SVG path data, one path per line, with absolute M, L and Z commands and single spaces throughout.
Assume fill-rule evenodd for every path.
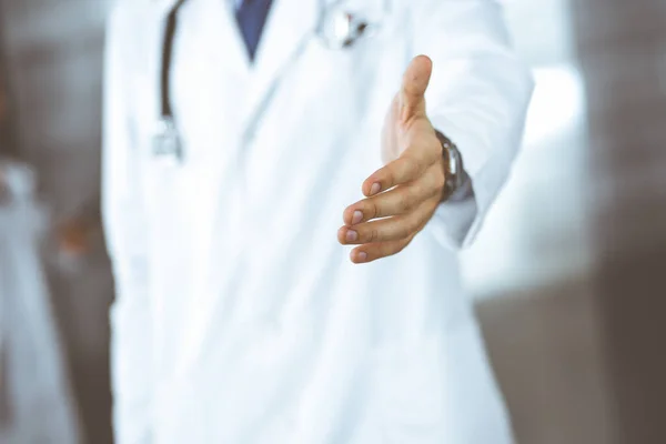
M 576 0 L 596 291 L 618 442 L 666 443 L 666 1 Z

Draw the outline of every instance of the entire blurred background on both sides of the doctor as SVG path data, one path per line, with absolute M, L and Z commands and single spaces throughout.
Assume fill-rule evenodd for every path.
M 98 206 L 110 3 L 0 0 L 3 444 L 111 442 Z M 463 264 L 516 434 L 666 443 L 666 1 L 504 3 L 537 88 Z

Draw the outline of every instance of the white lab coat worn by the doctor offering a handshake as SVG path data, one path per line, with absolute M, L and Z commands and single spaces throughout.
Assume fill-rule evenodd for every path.
M 496 2 L 343 1 L 381 27 L 332 50 L 314 33 L 322 1 L 275 0 L 252 67 L 232 6 L 186 1 L 176 168 L 151 154 L 173 3 L 121 2 L 110 26 L 118 442 L 509 443 L 455 252 L 508 173 L 532 91 Z M 382 165 L 382 121 L 418 53 L 434 61 L 428 115 L 475 196 L 443 204 L 402 253 L 354 265 L 342 211 Z

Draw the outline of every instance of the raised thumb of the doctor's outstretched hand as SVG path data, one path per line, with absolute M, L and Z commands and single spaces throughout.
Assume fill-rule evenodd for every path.
M 415 57 L 403 75 L 400 92 L 401 120 L 425 115 L 425 90 L 433 73 L 433 62 L 426 56 Z

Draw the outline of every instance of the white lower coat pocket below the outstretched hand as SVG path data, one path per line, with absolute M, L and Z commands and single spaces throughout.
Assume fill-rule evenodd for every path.
M 374 414 L 383 443 L 441 443 L 445 376 L 442 341 L 433 335 L 390 344 L 373 356 Z

